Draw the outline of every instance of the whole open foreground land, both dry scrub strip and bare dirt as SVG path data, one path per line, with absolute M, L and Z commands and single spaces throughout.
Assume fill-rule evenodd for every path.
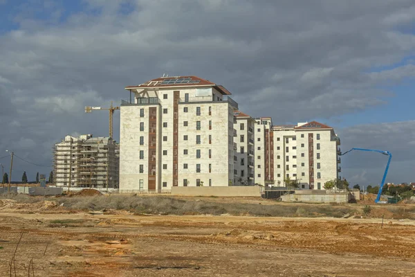
M 0 198 L 3 276 L 415 276 L 414 204 Z M 368 208 L 369 207 L 369 208 Z M 10 273 L 11 272 L 11 273 Z M 26 274 L 26 275 L 25 275 Z

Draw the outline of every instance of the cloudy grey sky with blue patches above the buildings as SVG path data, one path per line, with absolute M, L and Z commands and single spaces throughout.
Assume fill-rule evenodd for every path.
M 387 181 L 415 181 L 414 0 L 0 0 L 0 158 L 46 166 L 15 159 L 12 179 L 48 175 L 66 134 L 106 136 L 107 112 L 84 106 L 163 73 L 223 84 L 274 124 L 330 125 L 343 152 L 389 150 Z M 342 177 L 378 184 L 386 161 L 351 152 Z

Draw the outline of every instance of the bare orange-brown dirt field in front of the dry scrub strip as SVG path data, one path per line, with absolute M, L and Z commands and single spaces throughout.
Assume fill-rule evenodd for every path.
M 134 215 L 21 205 L 0 213 L 0 276 L 10 276 L 21 233 L 13 276 L 415 276 L 413 220 L 382 225 L 381 218 Z

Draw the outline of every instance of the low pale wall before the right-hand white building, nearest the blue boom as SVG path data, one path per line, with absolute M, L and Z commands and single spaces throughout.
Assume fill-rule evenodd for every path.
M 347 203 L 349 202 L 349 193 L 293 194 L 293 195 L 282 195 L 281 199 L 282 199 L 282 202 Z

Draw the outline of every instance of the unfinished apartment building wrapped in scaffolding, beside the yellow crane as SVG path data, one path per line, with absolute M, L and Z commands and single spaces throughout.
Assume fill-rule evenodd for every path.
M 118 188 L 119 144 L 109 137 L 66 136 L 53 148 L 56 186 Z

